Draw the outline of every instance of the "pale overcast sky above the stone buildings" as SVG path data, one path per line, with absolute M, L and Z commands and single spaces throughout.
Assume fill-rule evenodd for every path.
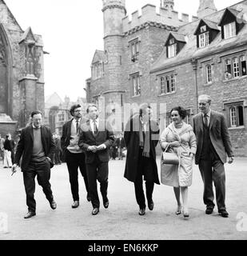
M 102 0 L 5 0 L 22 30 L 30 26 L 41 34 L 45 55 L 45 94 L 57 92 L 75 101 L 85 97 L 83 88 L 90 78 L 94 51 L 103 49 Z M 175 0 L 174 9 L 197 15 L 200 0 Z M 237 0 L 214 0 L 217 10 Z M 127 14 L 146 3 L 160 5 L 160 0 L 125 0 Z

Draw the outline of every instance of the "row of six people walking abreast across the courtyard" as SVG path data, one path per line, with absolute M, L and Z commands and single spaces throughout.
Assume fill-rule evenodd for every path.
M 129 118 L 125 126 L 124 142 L 127 150 L 124 177 L 133 182 L 138 214 L 144 215 L 146 204 L 153 210 L 154 184 L 160 184 L 156 163 L 156 146 L 173 153 L 179 159 L 178 164 L 161 164 L 161 183 L 173 186 L 177 209 L 175 214 L 189 218 L 188 191 L 193 179 L 193 161 L 199 165 L 204 182 L 203 200 L 205 214 L 212 214 L 214 208 L 213 183 L 216 187 L 216 202 L 219 214 L 228 217 L 225 207 L 225 169 L 227 155 L 233 162 L 233 150 L 225 117 L 210 109 L 211 98 L 201 95 L 198 106 L 201 113 L 193 118 L 193 126 L 184 122 L 186 110 L 177 106 L 170 112 L 172 123 L 161 133 L 159 125 L 152 118 L 152 108 L 141 106 L 138 113 Z M 93 206 L 92 214 L 100 210 L 97 183 L 100 183 L 102 202 L 105 208 L 110 205 L 108 198 L 109 150 L 115 138 L 108 122 L 99 118 L 98 107 L 88 106 L 88 117 L 82 117 L 82 107 L 74 105 L 70 109 L 72 119 L 62 127 L 61 146 L 65 157 L 73 198 L 72 208 L 80 203 L 78 169 L 86 187 L 86 199 Z M 50 186 L 50 168 L 53 166 L 52 154 L 55 145 L 50 130 L 42 126 L 42 113 L 32 113 L 32 124 L 22 130 L 18 142 L 13 172 L 20 164 L 26 189 L 28 213 L 24 218 L 36 214 L 34 200 L 34 178 L 42 186 L 50 207 L 57 207 Z M 145 181 L 145 193 L 143 188 Z M 181 200 L 181 198 L 182 200 Z

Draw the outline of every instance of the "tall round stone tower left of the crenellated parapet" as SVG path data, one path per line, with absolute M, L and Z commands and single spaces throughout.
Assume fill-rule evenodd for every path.
M 103 91 L 106 104 L 120 102 L 122 90 L 123 25 L 125 18 L 125 0 L 103 0 L 104 50 L 105 50 L 105 86 Z

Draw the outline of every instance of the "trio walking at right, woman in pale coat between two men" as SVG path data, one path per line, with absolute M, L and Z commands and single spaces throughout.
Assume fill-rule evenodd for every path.
M 216 188 L 218 213 L 229 216 L 225 206 L 225 168 L 229 157 L 233 162 L 233 150 L 229 131 L 223 114 L 211 110 L 209 95 L 198 98 L 201 113 L 193 117 L 193 127 L 184 122 L 186 110 L 177 106 L 170 111 L 172 123 L 161 133 L 160 145 L 163 151 L 174 153 L 177 164 L 161 164 L 161 183 L 173 186 L 177 200 L 176 214 L 189 218 L 188 187 L 192 185 L 193 161 L 199 165 L 204 182 L 203 200 L 205 214 L 212 214 L 214 204 L 213 183 Z M 155 146 L 159 134 L 157 123 L 151 120 L 151 108 L 144 106 L 133 116 L 125 130 L 127 158 L 125 178 L 134 182 L 139 214 L 145 214 L 145 194 L 142 177 L 145 180 L 146 199 L 149 210 L 153 210 L 153 185 L 160 184 L 155 161 Z M 138 128 L 139 127 L 139 128 Z M 181 202 L 181 198 L 182 202 Z

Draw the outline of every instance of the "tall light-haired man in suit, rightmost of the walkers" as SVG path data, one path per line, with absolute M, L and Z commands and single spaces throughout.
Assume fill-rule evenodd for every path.
M 196 164 L 199 165 L 204 182 L 203 200 L 206 205 L 205 214 L 212 214 L 214 208 L 213 183 L 216 189 L 218 213 L 222 217 L 229 216 L 225 208 L 225 168 L 229 157 L 233 162 L 233 150 L 225 116 L 210 109 L 211 98 L 201 95 L 198 98 L 201 113 L 193 118 L 193 131 L 197 137 Z

